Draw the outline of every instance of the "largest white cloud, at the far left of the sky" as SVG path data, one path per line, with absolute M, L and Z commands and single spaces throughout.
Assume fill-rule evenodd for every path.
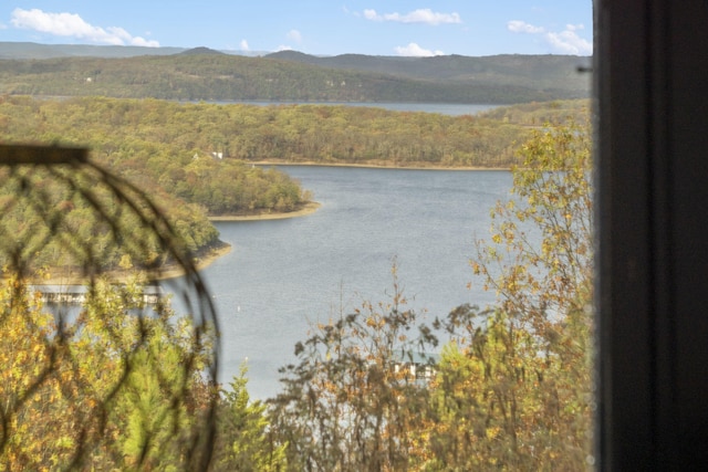
M 34 30 L 41 33 L 58 36 L 76 38 L 94 43 L 115 45 L 140 45 L 158 48 L 157 41 L 149 41 L 140 36 L 133 36 L 123 28 L 110 27 L 103 29 L 86 23 L 75 13 L 49 13 L 37 8 L 23 10 L 15 8 L 12 11 L 11 23 L 14 28 Z

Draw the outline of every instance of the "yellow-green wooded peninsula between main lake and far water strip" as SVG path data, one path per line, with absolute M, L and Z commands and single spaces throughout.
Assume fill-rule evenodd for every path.
M 0 128 L 6 144 L 91 148 L 96 162 L 157 201 L 190 250 L 204 252 L 219 243 L 209 217 L 288 213 L 313 199 L 284 172 L 257 164 L 509 168 L 514 147 L 534 128 L 586 111 L 584 99 L 446 116 L 343 105 L 6 95 Z M 101 241 L 85 209 L 61 204 L 77 233 Z M 20 227 L 21 209 L 10 213 L 3 223 Z M 51 253 L 48 248 L 46 258 L 38 260 L 50 261 Z M 118 250 L 101 253 L 105 269 L 121 260 Z

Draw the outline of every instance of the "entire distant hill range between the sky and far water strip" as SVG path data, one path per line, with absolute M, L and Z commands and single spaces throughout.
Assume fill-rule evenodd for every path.
M 257 53 L 251 53 L 257 54 Z M 187 101 L 523 103 L 590 96 L 590 57 L 246 56 L 208 48 L 0 42 L 0 93 Z

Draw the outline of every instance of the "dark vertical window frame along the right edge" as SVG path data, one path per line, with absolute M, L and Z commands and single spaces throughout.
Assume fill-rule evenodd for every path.
M 708 464 L 708 2 L 595 0 L 600 470 Z

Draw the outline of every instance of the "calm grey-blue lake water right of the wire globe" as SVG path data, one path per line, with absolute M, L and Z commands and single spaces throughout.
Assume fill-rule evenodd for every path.
M 221 381 L 248 358 L 251 396 L 274 396 L 278 368 L 295 360 L 310 323 L 388 300 L 394 258 L 409 306 L 430 317 L 492 301 L 467 289 L 468 261 L 475 238 L 488 238 L 489 209 L 508 197 L 509 172 L 282 169 L 322 207 L 301 218 L 217 224 L 232 245 L 204 271 L 220 315 Z

